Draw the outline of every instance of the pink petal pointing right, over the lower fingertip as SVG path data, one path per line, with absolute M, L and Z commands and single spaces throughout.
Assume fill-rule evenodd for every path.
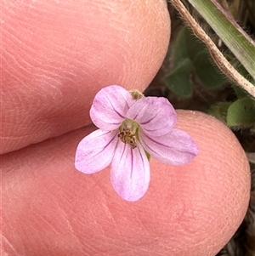
M 190 135 L 176 128 L 160 137 L 150 137 L 140 131 L 139 139 L 145 151 L 168 164 L 182 165 L 198 154 L 198 147 Z

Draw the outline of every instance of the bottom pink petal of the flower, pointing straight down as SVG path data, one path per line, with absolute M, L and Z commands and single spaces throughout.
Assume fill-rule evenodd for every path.
M 150 165 L 144 149 L 118 142 L 111 163 L 111 184 L 117 194 L 127 201 L 137 201 L 148 190 Z

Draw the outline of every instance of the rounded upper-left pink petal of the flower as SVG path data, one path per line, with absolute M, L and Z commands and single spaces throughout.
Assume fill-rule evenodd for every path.
M 98 128 L 105 131 L 115 130 L 121 126 L 127 110 L 134 102 L 125 88 L 118 85 L 102 88 L 95 95 L 90 117 Z

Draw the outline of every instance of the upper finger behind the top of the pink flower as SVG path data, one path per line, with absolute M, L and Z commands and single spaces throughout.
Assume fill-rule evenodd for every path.
M 170 37 L 156 0 L 5 1 L 2 20 L 1 153 L 88 125 L 100 88 L 144 90 Z

